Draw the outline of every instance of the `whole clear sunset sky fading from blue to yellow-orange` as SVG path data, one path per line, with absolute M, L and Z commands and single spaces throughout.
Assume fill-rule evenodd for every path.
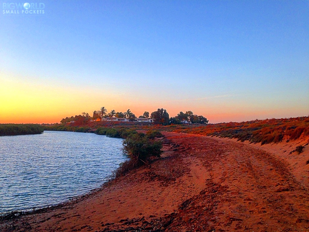
M 102 106 L 210 123 L 309 115 L 308 0 L 0 3 L 0 123 Z

